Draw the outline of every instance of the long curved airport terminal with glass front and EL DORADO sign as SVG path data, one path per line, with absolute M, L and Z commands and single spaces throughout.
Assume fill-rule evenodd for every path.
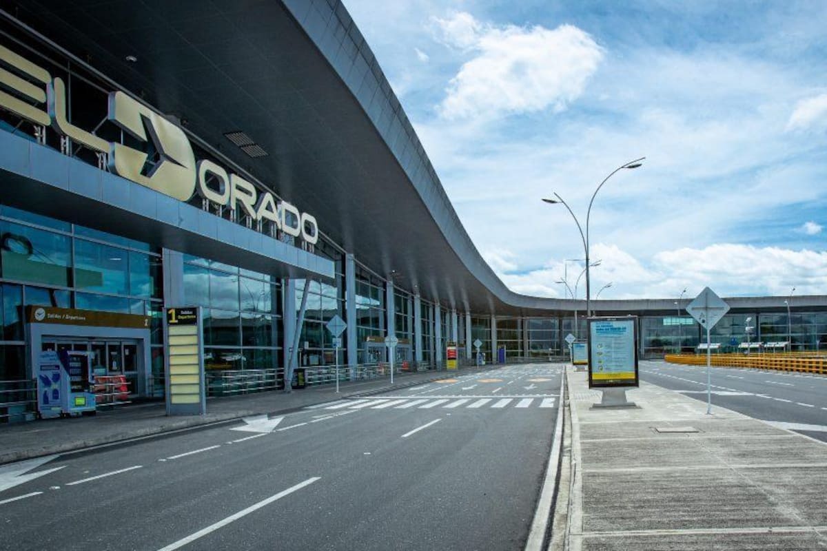
M 481 258 L 338 0 L 0 0 L 0 190 L 0 422 L 43 350 L 162 397 L 170 306 L 202 308 L 213 394 L 281 387 L 290 361 L 331 380 L 333 316 L 351 379 L 388 335 L 402 369 L 585 336 L 585 301 L 511 292 Z M 728 298 L 713 340 L 818 349 L 827 297 L 787 298 Z M 657 357 L 699 344 L 688 302 L 592 309 L 638 316 Z

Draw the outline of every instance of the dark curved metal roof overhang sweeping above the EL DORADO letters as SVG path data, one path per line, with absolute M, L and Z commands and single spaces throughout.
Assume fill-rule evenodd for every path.
M 7 3 L 16 7 L 8 17 L 186 121 L 204 146 L 312 213 L 324 234 L 397 286 L 477 313 L 583 307 L 512 292 L 485 263 L 338 0 Z M 225 137 L 232 131 L 266 156 L 245 154 Z M 674 306 L 595 302 L 599 311 L 648 308 Z

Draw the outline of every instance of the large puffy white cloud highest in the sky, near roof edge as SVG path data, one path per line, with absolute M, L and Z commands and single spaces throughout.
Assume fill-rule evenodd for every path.
M 438 107 L 447 120 L 504 113 L 560 112 L 583 93 L 603 51 L 576 26 L 493 26 L 466 12 L 434 18 L 437 40 L 474 57 L 451 79 Z

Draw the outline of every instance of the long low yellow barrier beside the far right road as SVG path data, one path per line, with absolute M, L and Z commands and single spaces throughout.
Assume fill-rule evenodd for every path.
M 706 354 L 667 354 L 669 363 L 706 365 Z M 827 375 L 827 355 L 812 352 L 711 354 L 710 363 L 722 368 L 756 368 Z

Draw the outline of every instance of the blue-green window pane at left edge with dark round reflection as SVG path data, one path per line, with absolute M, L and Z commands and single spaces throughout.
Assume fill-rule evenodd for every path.
M 0 221 L 0 236 L 3 278 L 69 287 L 69 237 L 5 221 Z

